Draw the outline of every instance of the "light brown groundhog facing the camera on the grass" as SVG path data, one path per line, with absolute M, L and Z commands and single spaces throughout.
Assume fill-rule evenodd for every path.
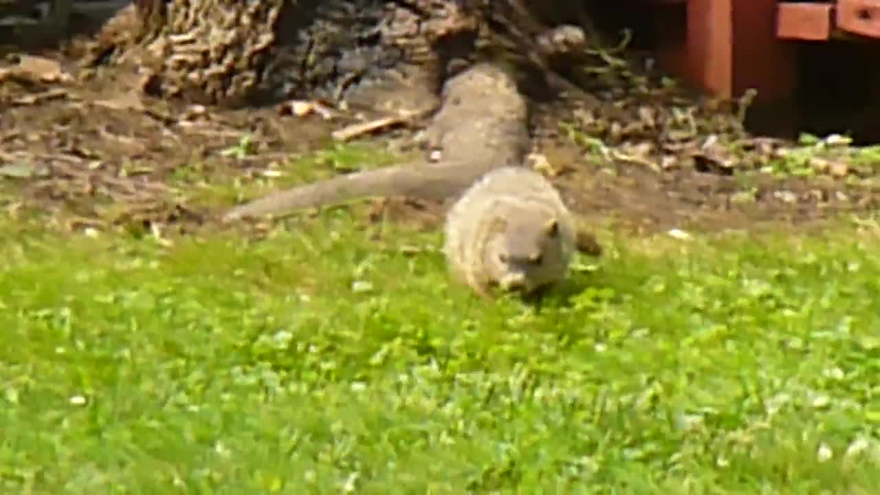
M 524 166 L 483 175 L 446 216 L 444 252 L 452 273 L 483 297 L 498 286 L 529 294 L 564 278 L 576 226 L 559 192 Z

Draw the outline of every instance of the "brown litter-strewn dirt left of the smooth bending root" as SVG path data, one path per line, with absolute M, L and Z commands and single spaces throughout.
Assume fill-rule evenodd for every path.
M 202 223 L 207 207 L 189 202 L 181 172 L 253 174 L 326 144 L 332 130 L 318 115 L 279 107 L 216 110 L 141 97 L 127 71 L 77 74 L 75 55 L 40 55 L 48 67 L 0 82 L 0 186 L 12 209 L 68 213 L 88 225 Z M 28 60 L 8 55 L 0 70 Z M 244 139 L 246 156 L 229 152 Z

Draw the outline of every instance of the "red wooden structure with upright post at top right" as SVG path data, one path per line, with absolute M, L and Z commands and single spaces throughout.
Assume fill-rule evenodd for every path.
M 683 8 L 686 35 L 660 49 L 668 70 L 713 94 L 748 88 L 759 100 L 792 93 L 797 41 L 880 41 L 880 0 L 649 0 Z M 661 17 L 662 18 L 662 17 Z M 877 62 L 880 62 L 878 60 Z

